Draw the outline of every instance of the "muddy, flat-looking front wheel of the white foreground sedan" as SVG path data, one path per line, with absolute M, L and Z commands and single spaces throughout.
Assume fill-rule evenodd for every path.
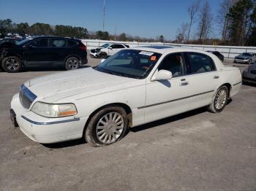
M 122 107 L 108 106 L 91 117 L 84 138 L 92 147 L 113 144 L 124 137 L 128 124 L 127 112 Z

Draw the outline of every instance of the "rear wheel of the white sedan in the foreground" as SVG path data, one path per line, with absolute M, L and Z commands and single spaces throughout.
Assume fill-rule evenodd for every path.
M 229 90 L 227 86 L 223 85 L 219 87 L 217 92 L 214 95 L 213 101 L 210 106 L 208 106 L 208 112 L 219 113 L 227 105 Z

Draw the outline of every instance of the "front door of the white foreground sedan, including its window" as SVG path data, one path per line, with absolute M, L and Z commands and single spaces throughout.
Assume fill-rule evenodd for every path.
M 184 80 L 186 69 L 182 53 L 167 55 L 159 64 L 157 71 L 161 69 L 171 71 L 173 78 L 154 82 L 148 79 L 146 105 L 140 108 L 145 111 L 146 122 L 159 120 L 187 110 L 187 99 L 182 98 L 189 94 L 187 90 L 189 84 Z

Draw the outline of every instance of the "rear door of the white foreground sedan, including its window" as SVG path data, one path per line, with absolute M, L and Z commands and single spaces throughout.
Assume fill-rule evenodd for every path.
M 188 109 L 211 104 L 220 80 L 214 61 L 198 52 L 184 52 L 184 57 L 187 64 L 184 81 L 187 82 L 189 92 Z

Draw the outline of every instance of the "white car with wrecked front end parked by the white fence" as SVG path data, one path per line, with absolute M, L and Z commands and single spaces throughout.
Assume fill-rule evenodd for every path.
M 91 58 L 108 58 L 110 55 L 115 54 L 119 50 L 129 48 L 127 44 L 112 44 L 106 43 L 96 49 L 91 49 Z

